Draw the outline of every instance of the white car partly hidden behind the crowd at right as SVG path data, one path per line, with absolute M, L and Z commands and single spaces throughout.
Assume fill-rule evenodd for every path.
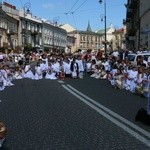
M 148 57 L 150 57 L 150 52 L 143 52 L 143 53 L 129 53 L 128 54 L 128 60 L 133 65 L 137 65 L 137 61 L 140 57 L 143 57 L 145 61 L 148 60 Z

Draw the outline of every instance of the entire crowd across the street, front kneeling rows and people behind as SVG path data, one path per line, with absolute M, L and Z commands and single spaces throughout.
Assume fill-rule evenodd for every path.
M 83 51 L 75 54 L 57 53 L 0 53 L 0 90 L 12 86 L 13 80 L 82 79 L 88 75 L 105 79 L 116 89 L 148 97 L 150 86 L 150 58 L 141 57 L 137 66 L 128 60 L 127 50 L 113 51 L 107 56 Z

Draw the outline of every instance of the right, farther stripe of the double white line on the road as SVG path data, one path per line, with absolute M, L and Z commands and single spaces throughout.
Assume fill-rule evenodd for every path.
M 133 129 L 139 131 L 140 133 L 142 133 L 143 135 L 147 136 L 150 138 L 150 133 L 143 130 L 142 128 L 138 127 L 137 125 L 133 124 L 132 122 L 128 121 L 127 119 L 121 117 L 120 115 L 118 115 L 117 113 L 113 112 L 112 110 L 106 108 L 105 106 L 101 105 L 100 103 L 96 102 L 95 100 L 91 99 L 90 97 L 84 95 L 83 93 L 81 93 L 80 91 L 78 91 L 77 89 L 73 88 L 70 85 L 67 85 L 70 89 L 72 89 L 74 92 L 78 93 L 79 95 L 81 95 L 82 97 L 84 97 L 85 99 L 87 99 L 88 101 L 92 102 L 93 104 L 95 104 L 96 106 L 98 106 L 99 108 L 105 110 L 107 113 L 109 113 L 111 116 L 121 120 L 122 122 L 126 123 L 127 125 L 131 126 Z

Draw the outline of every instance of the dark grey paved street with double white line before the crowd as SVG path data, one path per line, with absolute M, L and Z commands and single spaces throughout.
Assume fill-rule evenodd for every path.
M 0 92 L 3 150 L 149 150 L 147 100 L 106 80 L 15 80 Z

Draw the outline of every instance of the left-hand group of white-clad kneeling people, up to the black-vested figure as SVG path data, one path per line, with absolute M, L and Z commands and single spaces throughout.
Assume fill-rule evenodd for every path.
M 14 79 L 56 80 L 64 79 L 64 77 L 83 78 L 84 68 L 81 56 L 48 58 L 43 55 L 36 61 L 35 65 L 29 58 L 25 58 L 24 60 L 19 60 L 15 66 L 9 65 L 11 59 L 11 57 L 7 61 L 4 59 L 0 64 L 0 90 L 14 85 L 12 83 Z

